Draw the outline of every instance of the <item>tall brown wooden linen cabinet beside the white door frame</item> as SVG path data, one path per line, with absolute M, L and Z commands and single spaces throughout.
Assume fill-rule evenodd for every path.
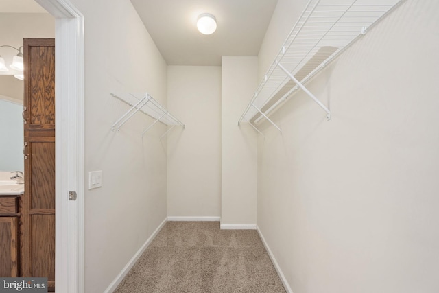
M 55 41 L 23 39 L 25 194 L 20 197 L 21 277 L 55 289 Z

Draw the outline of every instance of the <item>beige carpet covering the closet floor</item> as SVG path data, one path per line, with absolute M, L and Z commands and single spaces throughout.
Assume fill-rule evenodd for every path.
M 285 292 L 257 231 L 219 222 L 167 222 L 115 290 Z

